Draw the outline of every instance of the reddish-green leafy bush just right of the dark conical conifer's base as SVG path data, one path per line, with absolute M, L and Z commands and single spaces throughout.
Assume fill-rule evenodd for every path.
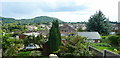
M 88 49 L 89 42 L 85 37 L 70 36 L 65 44 L 60 48 L 61 56 L 93 56 L 93 53 Z

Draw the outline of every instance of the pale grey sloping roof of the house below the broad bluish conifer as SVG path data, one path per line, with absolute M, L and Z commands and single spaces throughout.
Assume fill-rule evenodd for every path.
M 87 39 L 101 39 L 98 32 L 78 32 L 78 35 L 87 37 Z

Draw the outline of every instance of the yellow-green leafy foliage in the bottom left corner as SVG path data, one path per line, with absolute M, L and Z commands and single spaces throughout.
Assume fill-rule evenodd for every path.
M 18 53 L 18 44 L 22 44 L 22 40 L 10 38 L 11 34 L 5 34 L 2 36 L 2 49 L 3 56 L 15 56 Z

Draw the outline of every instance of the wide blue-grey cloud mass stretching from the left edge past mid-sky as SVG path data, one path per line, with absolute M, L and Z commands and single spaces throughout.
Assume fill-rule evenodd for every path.
M 85 5 L 76 5 L 74 2 L 2 2 L 2 16 L 5 17 L 30 18 L 37 14 L 46 15 L 47 12 L 74 12 L 84 9 L 87 9 Z

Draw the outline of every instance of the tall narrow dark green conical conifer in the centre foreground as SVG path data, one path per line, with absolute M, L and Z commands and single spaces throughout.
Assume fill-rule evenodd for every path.
M 50 53 L 57 51 L 61 45 L 61 34 L 57 20 L 52 22 L 52 27 L 50 29 L 48 38 L 48 45 L 50 47 Z

